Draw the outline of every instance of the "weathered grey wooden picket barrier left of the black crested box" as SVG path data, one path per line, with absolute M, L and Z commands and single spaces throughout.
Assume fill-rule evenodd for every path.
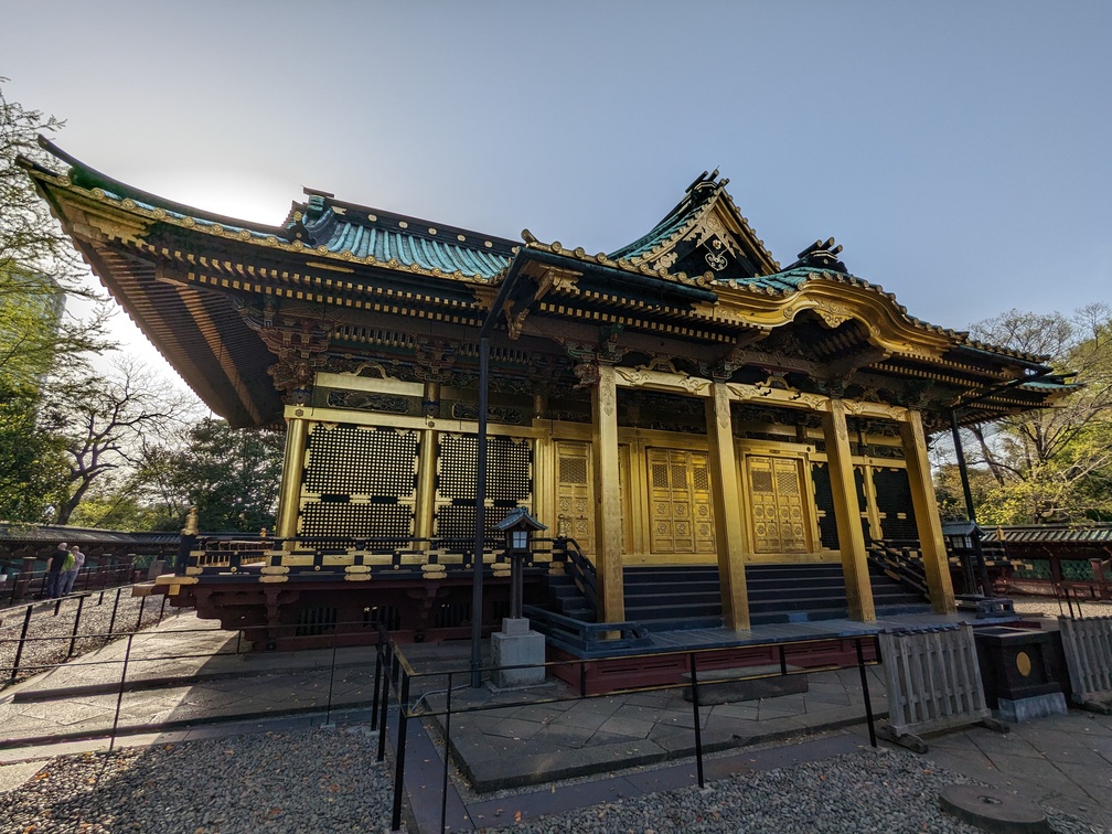
M 881 652 L 895 738 L 992 718 L 967 624 L 882 634 Z

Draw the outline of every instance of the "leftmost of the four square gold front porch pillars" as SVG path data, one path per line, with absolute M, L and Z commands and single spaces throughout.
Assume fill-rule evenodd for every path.
M 598 579 L 598 618 L 625 619 L 622 582 L 622 488 L 618 483 L 617 375 L 612 365 L 599 365 L 598 383 L 590 393 L 590 454 L 595 470 L 595 573 Z

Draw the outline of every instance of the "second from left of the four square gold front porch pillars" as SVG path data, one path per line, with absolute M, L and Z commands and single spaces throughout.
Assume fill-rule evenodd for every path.
M 718 552 L 718 584 L 722 586 L 722 618 L 726 628 L 747 631 L 749 598 L 745 587 L 745 529 L 742 526 L 729 390 L 724 384 L 715 383 L 713 391 L 706 400 L 706 440 L 714 500 L 714 536 Z

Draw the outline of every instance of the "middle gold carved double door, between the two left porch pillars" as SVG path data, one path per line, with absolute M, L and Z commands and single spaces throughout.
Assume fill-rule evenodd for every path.
M 649 549 L 714 553 L 714 513 L 706 455 L 648 449 Z

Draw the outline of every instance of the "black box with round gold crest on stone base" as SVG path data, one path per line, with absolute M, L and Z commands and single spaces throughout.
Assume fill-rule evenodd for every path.
M 1069 678 L 1055 631 L 991 626 L 973 632 L 985 703 L 1004 721 L 1066 712 Z

